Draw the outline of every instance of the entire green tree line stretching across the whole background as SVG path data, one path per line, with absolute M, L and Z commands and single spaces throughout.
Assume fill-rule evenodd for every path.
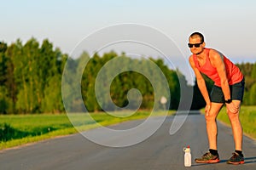
M 144 71 L 150 73 L 147 59 L 131 59 L 125 57 L 125 65 L 137 65 Z M 106 54 L 94 54 L 90 58 L 85 52 L 78 59 L 71 59 L 63 54 L 60 48 L 54 48 L 49 40 L 44 39 L 40 44 L 35 38 L 26 43 L 20 39 L 8 45 L 0 43 L 0 114 L 20 113 L 57 113 L 64 112 L 64 105 L 61 97 L 61 77 L 67 59 L 71 59 L 70 68 L 73 73 L 81 69 L 84 59 L 88 60 L 84 68 L 81 80 L 81 94 L 83 101 L 72 98 L 72 81 L 70 81 L 70 107 L 73 111 L 82 111 L 82 105 L 88 111 L 102 111 L 95 95 L 95 82 L 98 72 L 109 60 L 119 57 L 119 54 L 111 51 Z M 170 69 L 162 59 L 150 58 L 165 75 L 170 88 L 170 102 L 166 105 L 170 109 L 177 109 L 180 97 L 179 81 L 187 84 L 185 77 L 178 70 Z M 144 66 L 143 66 L 144 65 Z M 68 66 L 68 65 L 67 65 Z M 238 64 L 246 78 L 245 98 L 243 105 L 256 105 L 256 63 Z M 107 73 L 106 73 L 107 74 Z M 108 76 L 108 75 L 106 75 Z M 204 105 L 201 94 L 196 87 L 191 108 L 199 109 Z M 154 89 L 147 77 L 135 71 L 125 71 L 113 78 L 109 93 L 114 105 L 125 107 L 129 105 L 127 93 L 131 88 L 137 88 L 142 96 L 140 109 L 148 110 L 154 105 Z M 207 80 L 207 88 L 211 90 L 212 82 Z M 134 98 L 136 101 L 136 98 Z M 135 102 L 136 103 L 136 102 Z M 108 105 L 108 101 L 104 103 Z M 161 105 L 158 104 L 158 107 Z M 114 109 L 111 106 L 110 110 Z

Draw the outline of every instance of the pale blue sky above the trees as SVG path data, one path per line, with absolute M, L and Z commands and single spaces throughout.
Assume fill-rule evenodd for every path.
M 188 37 L 201 31 L 208 48 L 235 63 L 255 62 L 253 0 L 1 0 L 0 41 L 49 39 L 63 53 L 94 32 L 124 23 L 150 26 L 170 37 L 189 58 Z M 86 49 L 85 49 L 86 50 Z M 191 81 L 191 80 L 189 80 Z

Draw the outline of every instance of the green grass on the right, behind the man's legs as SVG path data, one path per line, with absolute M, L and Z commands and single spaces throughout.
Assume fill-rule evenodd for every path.
M 256 106 L 241 106 L 240 111 L 240 121 L 243 128 L 243 132 L 247 136 L 256 139 Z M 226 114 L 226 108 L 222 108 L 218 114 L 218 121 L 224 122 L 228 126 L 230 125 L 230 120 Z

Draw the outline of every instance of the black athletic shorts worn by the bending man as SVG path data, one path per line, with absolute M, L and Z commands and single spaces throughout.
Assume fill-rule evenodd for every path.
M 243 93 L 244 93 L 244 84 L 245 84 L 245 80 L 243 78 L 241 82 L 237 82 L 236 84 L 230 85 L 231 99 L 237 99 L 242 101 Z M 222 89 L 214 85 L 212 88 L 210 99 L 212 102 L 215 102 L 215 103 L 224 103 L 225 99 L 224 99 L 224 94 L 222 92 Z

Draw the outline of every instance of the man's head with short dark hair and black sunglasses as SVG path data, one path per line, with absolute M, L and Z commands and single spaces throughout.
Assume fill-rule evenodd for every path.
M 200 32 L 194 32 L 189 36 L 188 44 L 191 53 L 201 54 L 203 52 L 206 43 L 204 42 L 204 36 Z

